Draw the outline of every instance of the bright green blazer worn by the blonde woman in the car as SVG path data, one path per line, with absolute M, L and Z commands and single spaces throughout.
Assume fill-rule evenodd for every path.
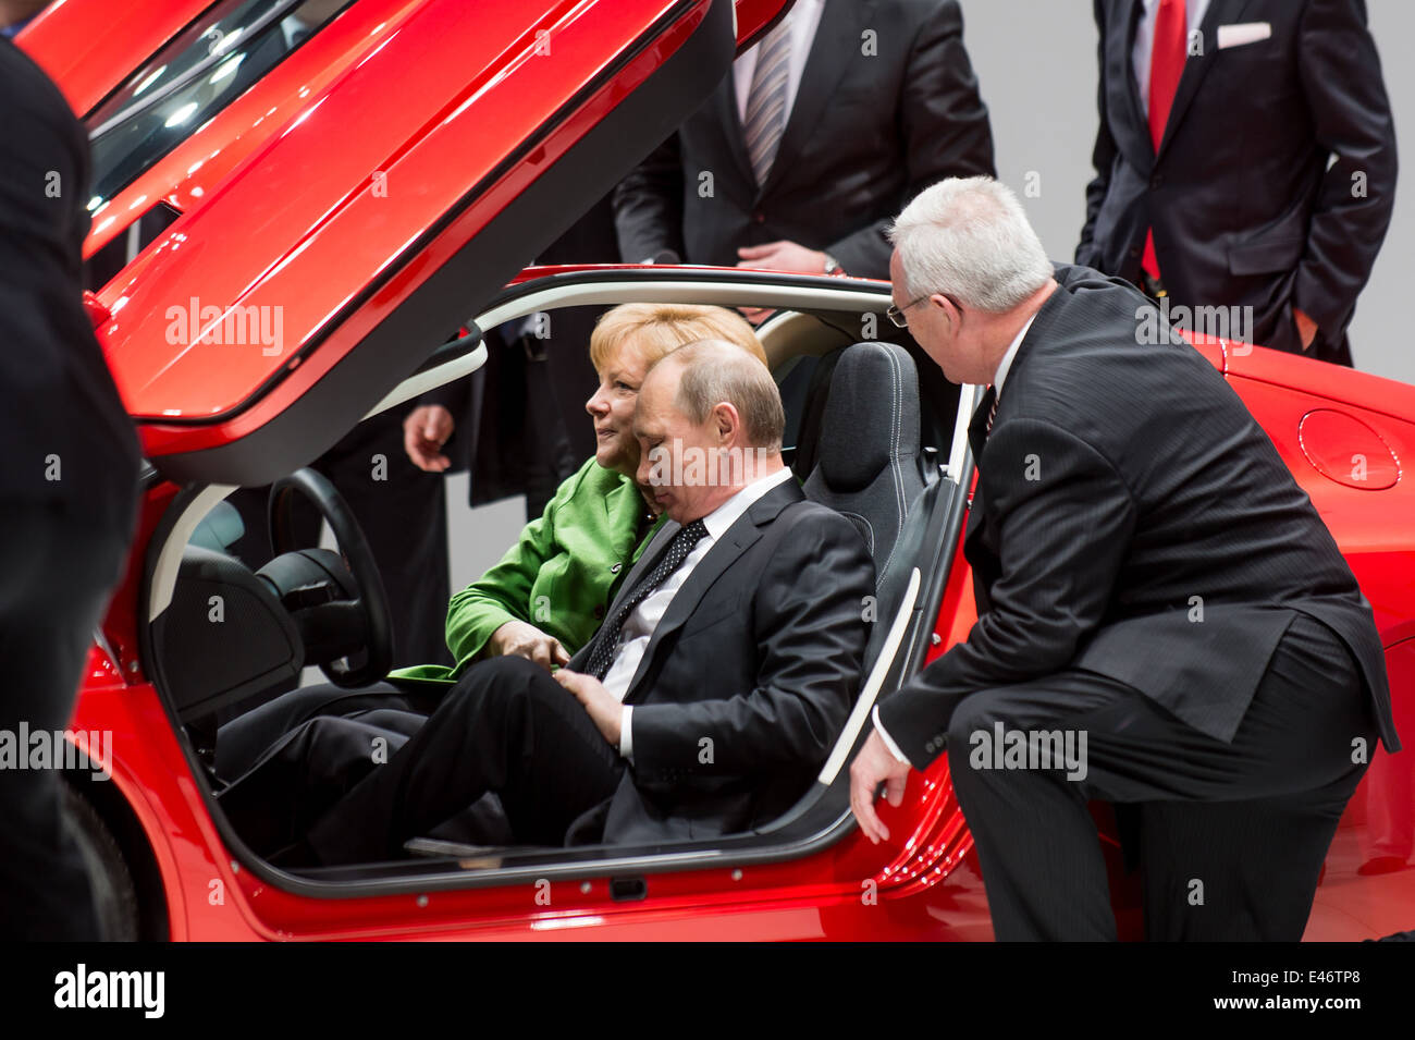
M 599 630 L 624 576 L 664 522 L 659 516 L 640 536 L 647 512 L 633 480 L 590 458 L 501 562 L 451 597 L 447 649 L 457 664 L 399 668 L 388 678 L 456 682 L 507 621 L 533 624 L 574 654 Z

